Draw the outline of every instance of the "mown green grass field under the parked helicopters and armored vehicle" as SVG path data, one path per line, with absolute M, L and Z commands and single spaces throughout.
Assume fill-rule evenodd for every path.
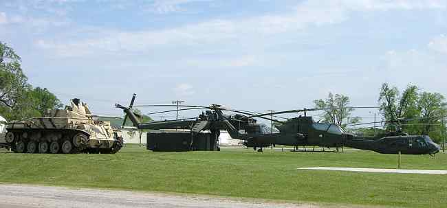
M 387 207 L 446 207 L 447 176 L 296 170 L 397 167 L 397 156 L 367 151 L 0 153 L 1 183 L 33 183 Z M 447 170 L 447 154 L 402 155 L 402 168 Z

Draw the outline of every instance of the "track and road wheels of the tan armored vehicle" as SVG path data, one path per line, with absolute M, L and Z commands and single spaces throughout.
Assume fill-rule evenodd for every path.
M 51 154 L 115 154 L 122 147 L 118 139 L 112 148 L 89 148 L 89 134 L 76 129 L 8 129 L 6 145 L 17 153 L 51 153 Z

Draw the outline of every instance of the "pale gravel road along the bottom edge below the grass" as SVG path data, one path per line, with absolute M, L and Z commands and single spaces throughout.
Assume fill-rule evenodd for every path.
M 238 201 L 231 198 L 113 191 L 103 189 L 72 189 L 37 185 L 0 184 L 0 208 L 35 207 L 319 207 Z

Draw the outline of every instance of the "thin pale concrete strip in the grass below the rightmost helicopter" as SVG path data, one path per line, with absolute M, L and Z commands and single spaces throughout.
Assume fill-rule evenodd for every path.
M 404 169 L 382 169 L 382 168 L 356 168 L 356 167 L 301 167 L 298 170 L 336 170 L 350 172 L 382 172 L 402 174 L 447 174 L 447 170 L 404 170 Z

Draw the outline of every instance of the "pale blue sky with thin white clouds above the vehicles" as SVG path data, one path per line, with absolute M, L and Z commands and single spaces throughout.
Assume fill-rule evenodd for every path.
M 329 92 L 377 106 L 383 82 L 447 93 L 446 0 L 1 0 L 0 41 L 30 84 L 102 115 L 133 93 L 262 113 Z

